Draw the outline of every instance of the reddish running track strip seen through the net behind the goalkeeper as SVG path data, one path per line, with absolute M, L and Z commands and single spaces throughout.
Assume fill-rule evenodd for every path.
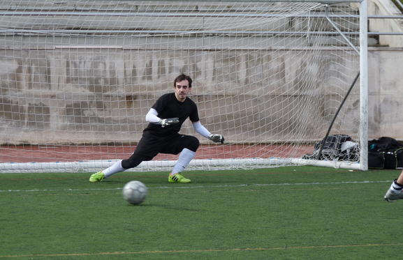
M 80 160 L 126 159 L 135 146 L 0 146 L 0 162 L 74 162 Z M 300 158 L 312 153 L 313 146 L 292 145 L 201 145 L 195 159 Z M 159 154 L 153 160 L 177 160 L 177 155 Z

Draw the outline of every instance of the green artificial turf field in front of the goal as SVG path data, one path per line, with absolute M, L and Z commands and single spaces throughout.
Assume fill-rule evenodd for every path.
M 395 259 L 403 201 L 383 195 L 399 173 L 0 174 L 0 259 Z M 122 199 L 131 180 L 149 188 L 140 206 Z

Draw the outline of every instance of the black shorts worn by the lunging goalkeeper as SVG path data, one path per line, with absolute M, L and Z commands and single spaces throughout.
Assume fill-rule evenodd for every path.
M 191 135 L 175 133 L 168 137 L 159 137 L 144 133 L 132 157 L 135 156 L 136 158 L 141 158 L 141 160 L 148 161 L 159 153 L 178 154 L 184 148 L 189 148 L 189 150 L 196 152 L 198 146 L 198 139 Z

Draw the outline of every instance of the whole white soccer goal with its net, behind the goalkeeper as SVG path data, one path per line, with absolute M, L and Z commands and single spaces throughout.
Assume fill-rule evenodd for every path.
M 181 72 L 201 123 L 226 138 L 184 123 L 201 144 L 189 170 L 367 169 L 367 0 L 6 0 L 0 64 L 0 172 L 94 172 L 128 158 Z M 330 134 L 350 135 L 359 159 L 302 159 L 333 118 Z

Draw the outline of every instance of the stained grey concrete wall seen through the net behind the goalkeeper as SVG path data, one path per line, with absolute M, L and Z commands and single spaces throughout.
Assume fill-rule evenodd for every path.
M 0 50 L 3 143 L 131 142 L 156 98 L 189 72 L 192 99 L 211 131 L 232 142 L 316 139 L 346 92 L 357 56 L 295 50 Z M 353 59 L 351 59 L 353 57 Z M 319 59 L 320 58 L 320 59 Z M 308 60 L 307 60 L 308 59 Z M 342 63 L 342 71 L 335 71 Z M 335 75 L 334 73 L 338 73 Z M 356 132 L 358 89 L 337 125 Z M 353 109 L 355 107 L 355 109 Z M 349 110 L 351 109 L 351 110 Z M 305 118 L 308 116 L 308 121 Z M 350 121 L 349 121 L 350 120 Z M 190 131 L 185 128 L 184 131 Z

